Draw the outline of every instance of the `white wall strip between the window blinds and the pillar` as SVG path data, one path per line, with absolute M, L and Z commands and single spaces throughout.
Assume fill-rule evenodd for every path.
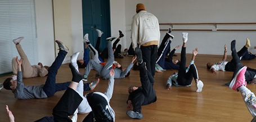
M 43 65 L 50 66 L 55 60 L 52 0 L 35 0 L 38 35 L 38 57 Z

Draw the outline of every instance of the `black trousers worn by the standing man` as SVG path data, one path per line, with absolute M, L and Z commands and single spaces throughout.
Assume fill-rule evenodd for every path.
M 146 62 L 147 70 L 149 70 L 150 74 L 154 77 L 158 46 L 141 46 L 141 52 L 143 62 Z

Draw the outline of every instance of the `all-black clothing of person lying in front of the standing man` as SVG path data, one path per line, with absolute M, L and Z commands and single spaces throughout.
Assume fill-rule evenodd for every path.
M 141 85 L 142 85 L 142 93 L 139 93 L 138 96 L 136 96 L 133 101 L 133 111 L 141 113 L 141 106 L 148 105 L 150 103 L 153 103 L 156 101 L 156 93 L 154 89 L 154 78 L 149 73 L 148 70 L 146 70 L 145 65 L 139 65 L 140 69 L 140 78 L 141 78 Z

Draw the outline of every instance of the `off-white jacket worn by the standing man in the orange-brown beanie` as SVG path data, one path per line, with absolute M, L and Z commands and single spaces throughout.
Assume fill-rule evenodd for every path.
M 158 19 L 147 11 L 140 11 L 132 17 L 132 47 L 141 46 L 152 40 L 160 40 Z

